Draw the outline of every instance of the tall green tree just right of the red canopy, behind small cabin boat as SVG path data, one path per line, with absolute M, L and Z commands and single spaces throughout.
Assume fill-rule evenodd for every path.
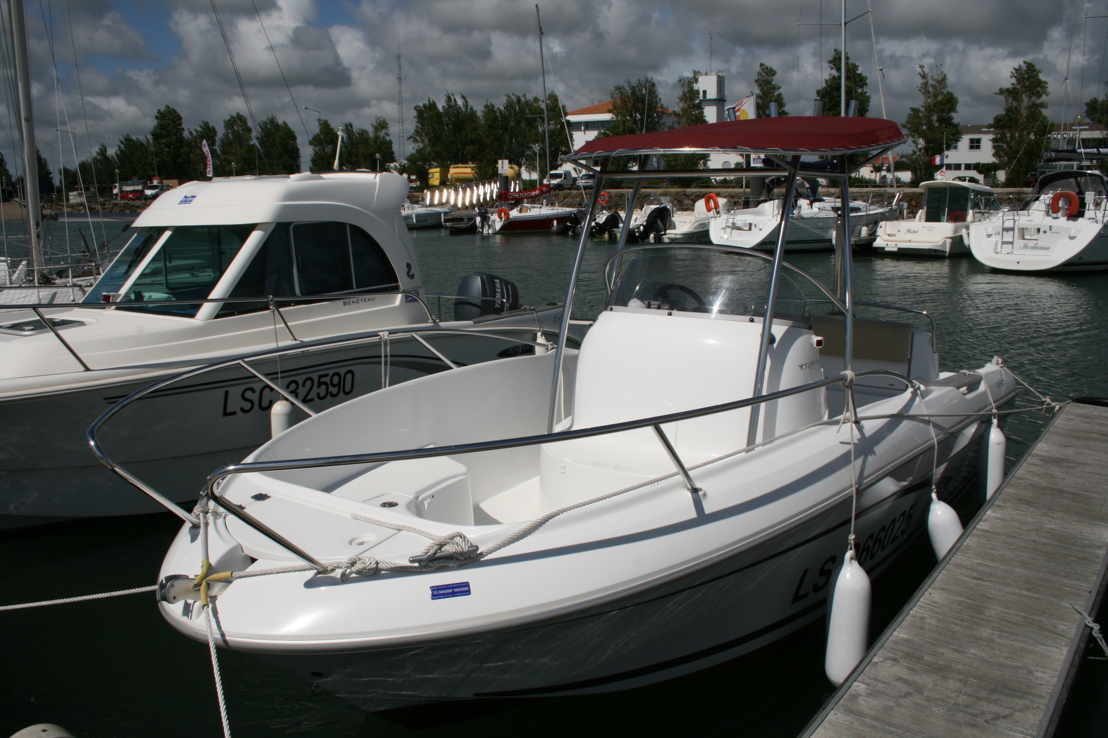
M 920 84 L 923 96 L 920 107 L 911 107 L 904 122 L 904 132 L 913 150 L 905 158 L 912 168 L 912 185 L 931 179 L 935 165 L 933 157 L 954 147 L 962 139 L 962 128 L 954 119 L 958 97 L 946 87 L 946 72 L 942 65 L 932 71 L 920 64 Z

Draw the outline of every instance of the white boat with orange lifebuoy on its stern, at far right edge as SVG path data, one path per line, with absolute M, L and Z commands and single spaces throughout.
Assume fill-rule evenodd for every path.
M 1023 205 L 970 225 L 970 250 L 993 269 L 1108 269 L 1108 186 L 1099 171 L 1043 175 Z

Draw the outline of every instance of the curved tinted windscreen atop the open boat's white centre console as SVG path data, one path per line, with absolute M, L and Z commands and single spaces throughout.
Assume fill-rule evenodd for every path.
M 765 315 L 770 272 L 769 261 L 733 251 L 648 248 L 622 258 L 608 304 L 712 316 Z M 783 273 L 773 318 L 811 323 L 804 293 Z

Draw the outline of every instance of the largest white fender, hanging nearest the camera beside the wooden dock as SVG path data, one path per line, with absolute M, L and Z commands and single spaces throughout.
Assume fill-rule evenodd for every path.
M 847 551 L 834 582 L 823 662 L 823 671 L 835 686 L 850 676 L 865 655 L 870 638 L 870 578 L 854 560 L 854 551 Z

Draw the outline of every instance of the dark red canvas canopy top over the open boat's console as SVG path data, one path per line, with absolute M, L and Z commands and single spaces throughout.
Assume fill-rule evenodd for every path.
M 893 146 L 904 134 L 893 121 L 789 115 L 706 123 L 685 128 L 594 138 L 565 160 L 613 154 L 753 152 L 769 154 L 850 154 Z

